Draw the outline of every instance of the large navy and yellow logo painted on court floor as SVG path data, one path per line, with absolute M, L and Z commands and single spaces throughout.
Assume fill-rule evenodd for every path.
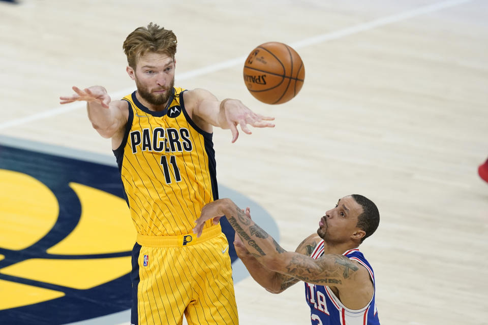
M 2 324 L 131 307 L 136 232 L 115 167 L 0 145 L 0 189 Z

